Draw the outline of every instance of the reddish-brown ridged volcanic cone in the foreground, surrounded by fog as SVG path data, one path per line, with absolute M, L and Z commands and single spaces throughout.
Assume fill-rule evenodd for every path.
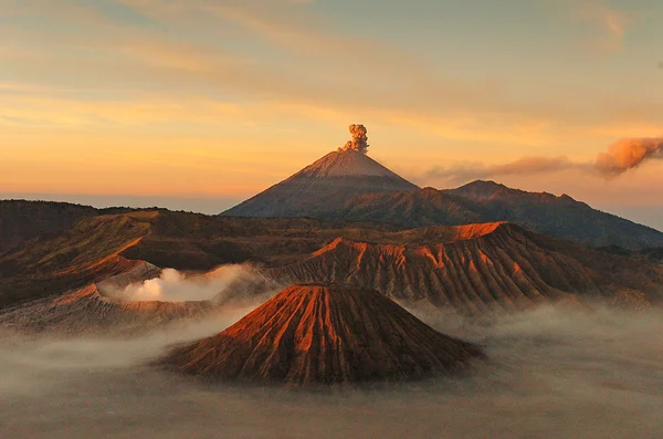
M 377 291 L 306 284 L 160 364 L 217 380 L 330 385 L 450 374 L 482 357 Z

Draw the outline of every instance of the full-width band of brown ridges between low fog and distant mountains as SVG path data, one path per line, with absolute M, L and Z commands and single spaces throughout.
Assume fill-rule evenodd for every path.
M 663 285 L 656 265 L 503 223 L 399 230 L 305 218 L 140 211 L 85 218 L 66 232 L 0 257 L 0 307 L 98 283 L 141 261 L 185 271 L 248 261 L 281 284 L 347 282 L 466 312 L 519 309 L 568 293 L 612 296 L 641 290 L 656 301 Z

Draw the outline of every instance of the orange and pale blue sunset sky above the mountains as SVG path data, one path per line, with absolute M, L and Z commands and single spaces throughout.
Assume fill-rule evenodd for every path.
M 660 0 L 0 0 L 0 197 L 219 212 L 368 127 L 420 186 L 494 179 L 663 229 Z M 515 163 L 515 164 L 514 164 Z

